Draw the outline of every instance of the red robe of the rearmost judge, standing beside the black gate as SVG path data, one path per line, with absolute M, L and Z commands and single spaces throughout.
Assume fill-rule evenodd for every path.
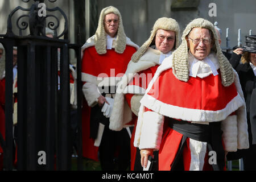
M 116 85 L 136 51 L 135 47 L 126 45 L 122 54 L 115 52 L 112 48 L 107 49 L 104 55 L 99 55 L 94 46 L 86 48 L 82 57 L 82 81 L 84 84 L 90 82 L 97 86 Z M 87 100 L 82 107 L 82 149 L 85 158 L 98 160 L 98 147 L 94 146 L 94 139 L 90 138 L 90 106 L 92 104 L 93 102 L 88 103 Z

